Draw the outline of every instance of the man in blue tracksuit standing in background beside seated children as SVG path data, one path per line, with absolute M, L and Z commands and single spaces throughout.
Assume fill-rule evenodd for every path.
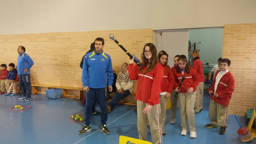
M 33 66 L 33 60 L 25 54 L 26 48 L 18 46 L 18 61 L 17 70 L 20 78 L 21 96 L 18 100 L 24 99 L 25 102 L 31 100 L 31 83 L 30 83 L 30 68 Z

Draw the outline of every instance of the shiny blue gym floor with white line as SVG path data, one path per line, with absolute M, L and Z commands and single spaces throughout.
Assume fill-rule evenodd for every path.
M 109 135 L 100 132 L 100 116 L 93 116 L 92 131 L 78 135 L 83 122 L 71 122 L 70 116 L 84 114 L 79 100 L 71 98 L 47 99 L 43 94 L 32 95 L 32 100 L 17 100 L 18 96 L 0 95 L 0 144 L 118 144 L 119 136 L 138 138 L 136 106 L 119 105 L 108 114 Z M 180 116 L 177 109 L 175 124 L 170 124 L 170 110 L 166 112 L 165 144 L 240 144 L 238 123 L 234 116 L 228 116 L 228 128 L 225 135 L 218 134 L 218 128 L 205 128 L 209 123 L 209 95 L 204 93 L 204 110 L 196 114 L 198 138 L 181 136 Z M 11 111 L 14 105 L 32 106 L 30 110 Z M 100 111 L 97 106 L 96 110 Z M 239 117 L 243 126 L 244 118 Z M 151 136 L 148 128 L 148 141 Z M 256 140 L 251 144 L 256 144 Z

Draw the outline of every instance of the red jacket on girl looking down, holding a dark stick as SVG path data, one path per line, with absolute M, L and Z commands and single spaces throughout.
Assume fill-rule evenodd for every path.
M 179 86 L 183 76 L 185 77 L 185 79 L 181 84 L 180 93 L 187 93 L 187 89 L 191 88 L 191 87 L 193 88 L 193 92 L 195 92 L 196 87 L 198 86 L 199 81 L 200 81 L 196 70 L 192 66 L 190 66 L 190 74 L 184 72 L 183 75 L 181 72 L 175 71 L 175 73 L 174 73 L 175 88 L 177 88 Z

